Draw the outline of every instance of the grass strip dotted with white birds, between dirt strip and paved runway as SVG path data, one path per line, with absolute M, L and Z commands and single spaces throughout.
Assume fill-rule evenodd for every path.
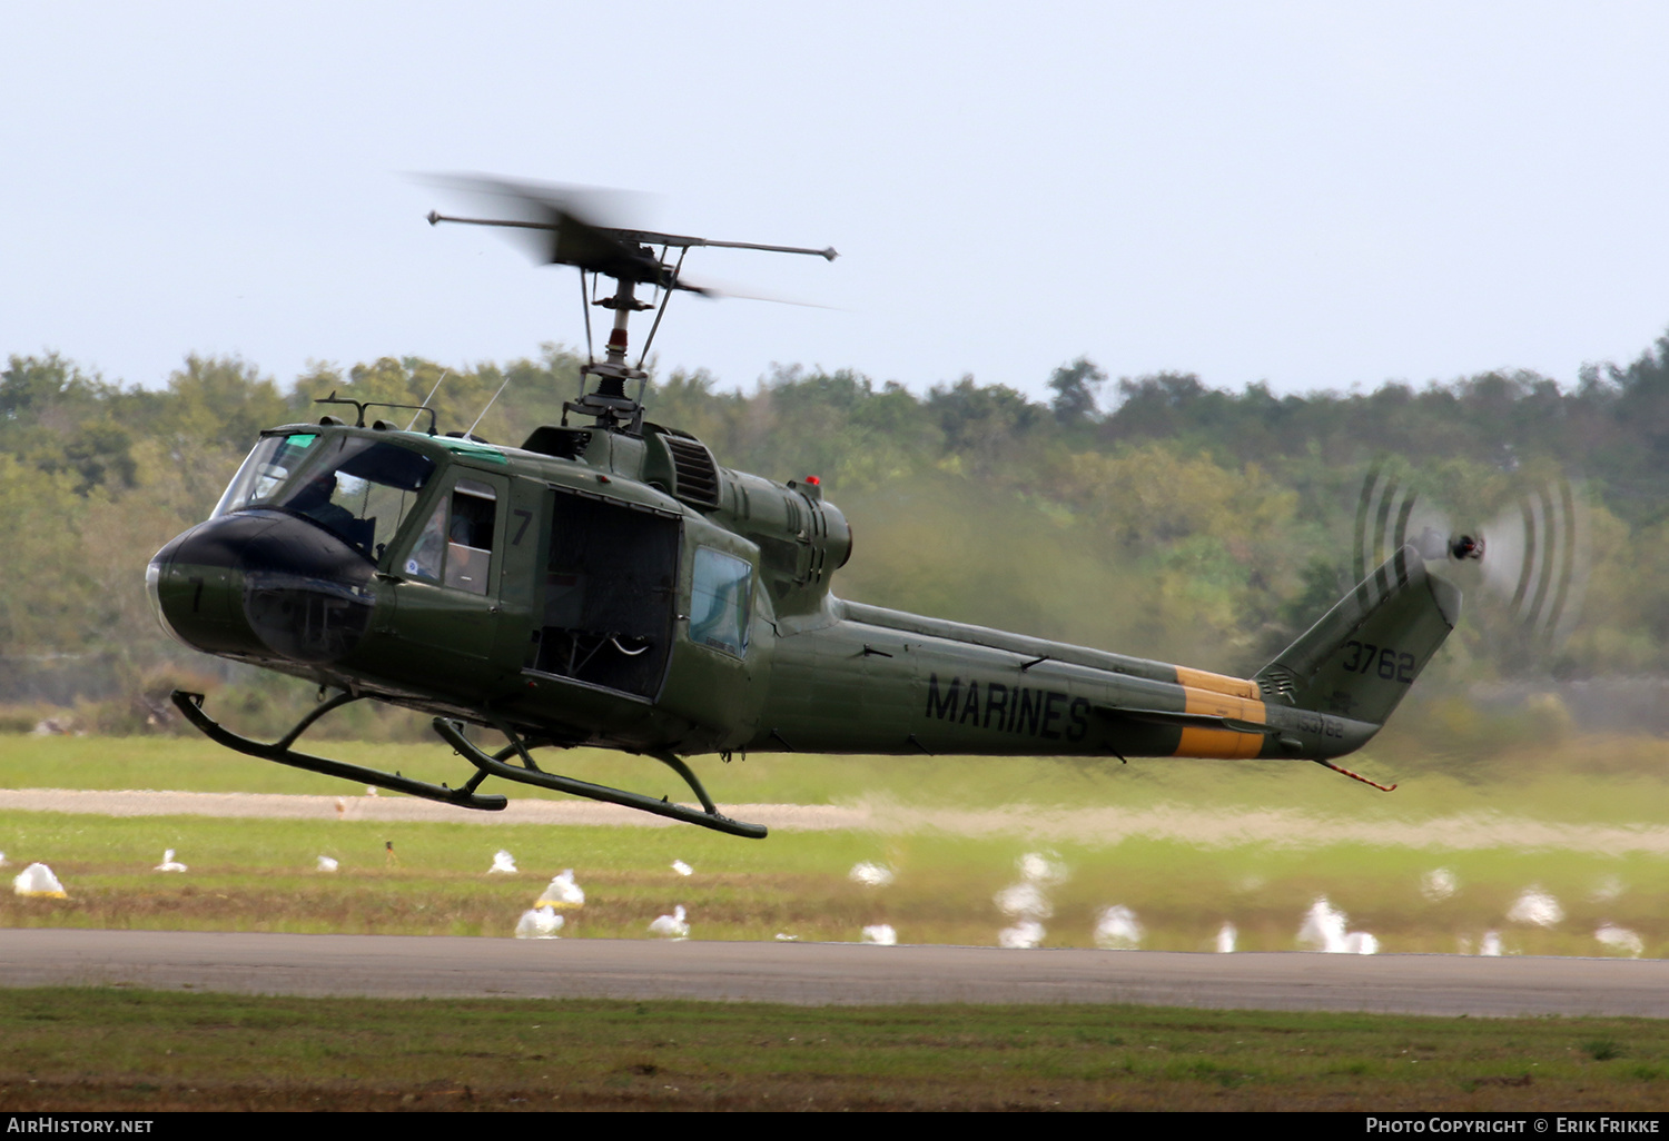
M 190 871 L 152 871 L 164 847 Z M 519 874 L 487 872 L 501 847 Z M 587 901 L 567 917 L 566 937 L 648 937 L 649 921 L 683 904 L 698 939 L 855 941 L 865 926 L 890 922 L 905 942 L 990 946 L 1011 922 L 993 897 L 1036 847 L 1015 836 L 933 831 L 778 832 L 753 842 L 693 827 L 0 812 L 8 864 L 47 862 L 68 891 L 62 901 L 0 896 L 0 927 L 509 936 L 551 876 L 572 867 Z M 1290 951 L 1303 912 L 1327 896 L 1387 953 L 1475 949 L 1495 929 L 1509 953 L 1607 954 L 1594 931 L 1614 922 L 1639 932 L 1647 956 L 1669 954 L 1669 861 L 1654 854 L 1153 839 L 1046 847 L 1070 877 L 1050 892 L 1045 946 L 1093 946 L 1100 912 L 1123 904 L 1150 949 L 1212 949 L 1227 921 L 1242 951 Z M 320 854 L 339 859 L 340 871 L 317 872 Z M 674 859 L 696 872 L 676 874 Z M 853 884 L 858 861 L 890 864 L 896 881 Z M 1439 864 L 1457 891 L 1434 901 L 1422 879 Z M 1507 922 L 1530 884 L 1562 902 L 1557 926 Z

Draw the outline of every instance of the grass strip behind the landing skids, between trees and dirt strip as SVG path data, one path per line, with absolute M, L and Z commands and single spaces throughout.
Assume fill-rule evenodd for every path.
M 299 746 L 424 781 L 461 782 L 471 769 L 444 744 L 320 741 Z M 541 754 L 544 767 L 586 781 L 688 799 L 654 761 L 599 749 Z M 1487 759 L 1410 759 L 1407 742 L 1347 764 L 1395 792 L 1375 792 L 1325 769 L 1290 761 L 1083 761 L 1051 757 L 824 757 L 749 754 L 693 767 L 721 804 L 901 804 L 920 807 L 1190 807 L 1293 809 L 1319 819 L 1425 821 L 1505 814 L 1566 824 L 1651 824 L 1669 819 L 1662 742 L 1654 737 L 1574 737 Z M 330 794 L 354 786 L 229 752 L 202 737 L 0 736 L 0 787 L 175 789 Z M 487 782 L 512 797 L 564 799 L 527 786 Z

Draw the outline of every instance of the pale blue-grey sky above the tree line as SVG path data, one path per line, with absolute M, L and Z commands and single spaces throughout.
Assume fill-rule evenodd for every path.
M 691 254 L 826 305 L 674 299 L 661 367 L 731 387 L 1569 384 L 1669 327 L 1662 3 L 8 3 L 0 43 L 0 354 L 125 382 L 582 345 L 576 272 L 431 229 L 422 172 L 840 249 Z

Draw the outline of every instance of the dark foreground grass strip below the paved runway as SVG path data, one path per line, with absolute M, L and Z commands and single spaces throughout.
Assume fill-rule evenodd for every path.
M 8 991 L 0 1111 L 1636 1109 L 1669 1023 Z

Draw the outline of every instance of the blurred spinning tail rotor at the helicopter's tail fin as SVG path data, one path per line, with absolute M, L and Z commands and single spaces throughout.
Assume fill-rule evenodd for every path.
M 1571 636 L 1587 589 L 1587 522 L 1581 484 L 1559 477 L 1519 494 L 1480 532 L 1459 534 L 1447 517 L 1384 465 L 1362 480 L 1354 562 L 1360 581 L 1412 542 L 1425 559 L 1472 560 L 1484 587 L 1512 617 L 1557 649 Z

